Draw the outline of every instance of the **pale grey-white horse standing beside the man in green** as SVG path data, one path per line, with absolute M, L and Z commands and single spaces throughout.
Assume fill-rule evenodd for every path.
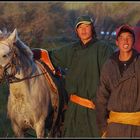
M 50 88 L 37 63 L 16 30 L 5 38 L 3 35 L 0 40 L 0 77 L 9 83 L 8 116 L 19 137 L 24 136 L 27 128 L 34 129 L 38 138 L 44 137 L 46 118 L 59 100 L 58 90 L 56 93 Z

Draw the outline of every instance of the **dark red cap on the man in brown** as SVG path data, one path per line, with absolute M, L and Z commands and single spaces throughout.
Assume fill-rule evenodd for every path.
M 117 30 L 116 30 L 116 39 L 120 36 L 121 33 L 123 32 L 129 32 L 133 35 L 134 39 L 135 39 L 135 34 L 134 34 L 134 30 L 133 27 L 128 25 L 128 24 L 124 24 L 122 26 L 120 26 Z

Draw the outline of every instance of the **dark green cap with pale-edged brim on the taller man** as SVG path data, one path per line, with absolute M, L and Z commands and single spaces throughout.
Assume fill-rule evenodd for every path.
M 75 23 L 75 28 L 78 27 L 81 23 L 84 24 L 91 24 L 93 23 L 93 19 L 90 16 L 83 15 L 77 18 L 76 23 Z

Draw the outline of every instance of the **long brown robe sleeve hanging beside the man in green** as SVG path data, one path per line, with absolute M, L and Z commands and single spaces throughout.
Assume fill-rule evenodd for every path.
M 107 62 L 106 62 L 107 63 Z M 108 64 L 103 65 L 100 82 L 96 93 L 97 124 L 101 135 L 106 131 L 108 110 L 107 104 L 110 96 Z

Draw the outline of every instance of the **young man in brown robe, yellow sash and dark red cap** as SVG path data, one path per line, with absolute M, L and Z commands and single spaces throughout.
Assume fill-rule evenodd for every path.
M 103 137 L 140 137 L 140 55 L 135 34 L 122 25 L 115 52 L 104 64 L 97 90 L 97 122 Z

